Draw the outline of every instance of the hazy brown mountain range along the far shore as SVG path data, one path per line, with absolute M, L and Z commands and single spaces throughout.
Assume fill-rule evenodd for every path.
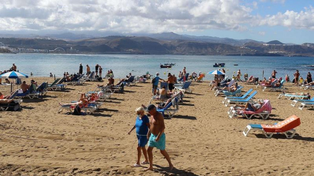
M 79 53 L 100 54 L 183 54 L 183 55 L 257 55 L 313 56 L 314 44 L 285 44 L 251 39 L 179 35 L 173 32 L 138 35 L 94 37 L 73 33 L 51 34 L 49 37 L 29 38 L 0 34 L 0 42 L 11 48 L 53 50 L 74 48 Z M 48 36 L 48 35 L 47 35 Z M 13 38 L 16 37 L 16 38 Z

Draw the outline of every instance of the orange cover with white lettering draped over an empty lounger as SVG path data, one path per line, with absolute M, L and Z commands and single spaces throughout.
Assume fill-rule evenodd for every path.
M 265 132 L 267 133 L 282 133 L 289 131 L 301 124 L 300 118 L 293 115 L 289 118 L 285 119 L 284 121 L 278 122 L 274 125 L 263 125 L 262 127 Z

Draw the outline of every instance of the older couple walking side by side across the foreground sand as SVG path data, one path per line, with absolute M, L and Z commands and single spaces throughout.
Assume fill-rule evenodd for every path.
M 143 171 L 153 170 L 153 148 L 156 147 L 160 150 L 160 153 L 165 156 L 166 160 L 169 163 L 169 170 L 173 169 L 173 165 L 170 160 L 170 156 L 165 150 L 166 144 L 166 136 L 165 136 L 165 122 L 163 115 L 156 110 L 156 106 L 153 104 L 149 104 L 146 108 L 146 111 L 149 112 L 150 119 L 144 114 L 143 107 L 139 107 L 136 109 L 137 119 L 132 127 L 132 129 L 128 132 L 130 134 L 135 128 L 138 138 L 138 160 L 133 167 L 140 167 L 140 164 L 148 164 L 149 167 L 144 169 Z M 145 145 L 148 141 L 148 149 L 146 151 Z M 145 161 L 140 162 L 141 159 L 141 149 L 145 156 Z M 148 158 L 147 158 L 148 154 Z M 149 160 L 149 162 L 147 161 Z

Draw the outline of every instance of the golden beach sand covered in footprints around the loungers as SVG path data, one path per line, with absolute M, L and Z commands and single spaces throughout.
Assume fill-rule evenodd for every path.
M 30 79 L 23 79 L 30 82 Z M 52 82 L 52 78 L 35 78 Z M 128 131 L 135 122 L 135 108 L 147 105 L 151 83 L 126 87 L 113 94 L 100 110 L 87 116 L 57 114 L 58 103 L 78 98 L 77 91 L 94 90 L 97 82 L 68 85 L 64 91 L 49 91 L 39 99 L 23 99 L 22 111 L 0 112 L 0 175 L 313 175 L 314 111 L 299 110 L 292 100 L 277 99 L 279 92 L 258 90 L 258 99 L 270 99 L 268 120 L 230 119 L 222 96 L 214 97 L 208 82 L 191 84 L 178 113 L 165 119 L 166 150 L 175 168 L 153 150 L 154 171 L 132 168 L 137 159 L 137 138 Z M 240 84 L 241 85 L 241 84 Z M 310 92 L 286 83 L 286 92 Z M 16 85 L 14 86 L 16 88 Z M 0 86 L 8 94 L 10 86 Z M 314 94 L 312 94 L 313 96 Z M 157 103 L 156 101 L 154 103 Z M 261 132 L 242 134 L 249 123 L 272 124 L 295 114 L 301 125 L 293 139 Z M 142 160 L 143 161 L 143 155 Z

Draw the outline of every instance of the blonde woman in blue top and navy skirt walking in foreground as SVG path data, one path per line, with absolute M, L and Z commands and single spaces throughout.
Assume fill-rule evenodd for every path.
M 131 134 L 131 132 L 136 128 L 136 136 L 138 138 L 138 159 L 135 164 L 133 164 L 133 167 L 140 167 L 141 164 L 148 164 L 148 157 L 147 157 L 147 150 L 145 148 L 145 145 L 147 144 L 147 133 L 148 129 L 150 127 L 149 124 L 149 118 L 145 115 L 144 108 L 138 107 L 136 108 L 136 120 L 135 124 L 131 128 L 131 130 L 127 134 Z M 141 150 L 143 151 L 143 155 L 145 157 L 145 161 L 140 162 L 141 159 Z

